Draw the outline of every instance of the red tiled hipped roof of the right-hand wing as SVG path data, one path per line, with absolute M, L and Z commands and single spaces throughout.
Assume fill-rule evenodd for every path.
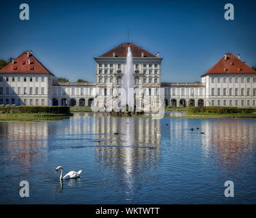
M 256 74 L 256 71 L 242 62 L 235 55 L 227 53 L 227 60 L 225 56 L 216 63 L 211 69 L 202 76 L 208 74 Z

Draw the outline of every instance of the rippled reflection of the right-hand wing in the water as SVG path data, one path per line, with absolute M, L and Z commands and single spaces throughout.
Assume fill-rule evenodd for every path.
M 250 125 L 248 120 L 205 121 L 202 128 L 207 133 L 202 137 L 205 156 L 215 154 L 225 168 L 238 165 L 252 154 L 256 125 Z

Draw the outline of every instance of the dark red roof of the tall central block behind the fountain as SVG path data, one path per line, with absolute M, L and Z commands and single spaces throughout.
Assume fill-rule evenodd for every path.
M 119 46 L 104 53 L 104 55 L 101 55 L 100 57 L 113 57 L 113 52 L 115 52 L 115 57 L 126 57 L 129 46 L 132 52 L 132 57 L 141 57 L 142 52 L 144 53 L 144 57 L 156 57 L 156 55 L 153 55 L 144 48 L 139 47 L 132 42 L 124 42 Z

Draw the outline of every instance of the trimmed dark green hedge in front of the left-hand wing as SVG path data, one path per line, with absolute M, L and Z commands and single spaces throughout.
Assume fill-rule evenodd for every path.
M 46 113 L 46 114 L 68 114 L 68 106 L 5 106 L 0 107 L 0 114 L 5 113 Z

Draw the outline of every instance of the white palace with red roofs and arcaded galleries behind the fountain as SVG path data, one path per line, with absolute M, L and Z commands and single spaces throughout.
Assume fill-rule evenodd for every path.
M 201 76 L 201 82 L 161 82 L 159 52 L 153 55 L 133 43 L 123 43 L 94 57 L 96 82 L 57 82 L 32 51 L 25 51 L 0 69 L 0 105 L 53 105 L 105 107 L 122 88 L 128 47 L 134 64 L 134 93 L 158 102 L 165 91 L 165 106 L 255 107 L 256 71 L 227 53 Z M 162 88 L 162 89 L 161 89 Z

